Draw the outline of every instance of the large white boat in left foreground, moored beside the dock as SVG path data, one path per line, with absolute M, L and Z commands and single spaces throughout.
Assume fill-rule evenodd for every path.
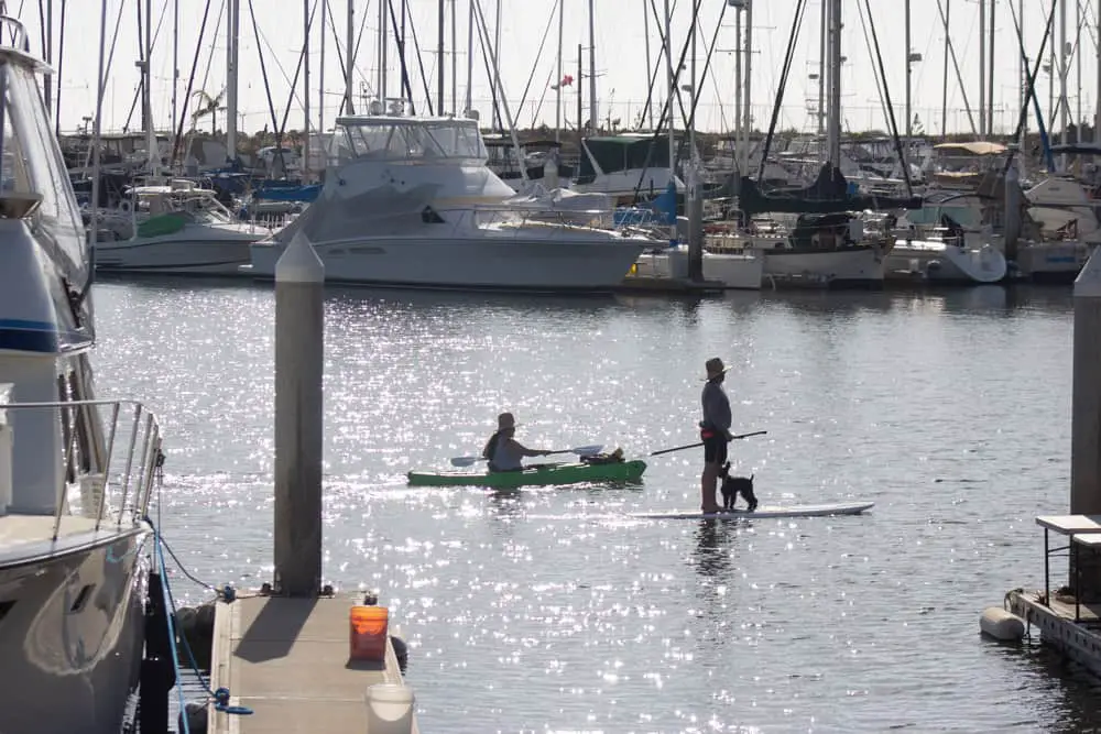
M 117 734 L 144 639 L 152 415 L 96 399 L 91 266 L 23 26 L 0 17 L 0 728 Z M 56 77 L 54 77 L 56 78 Z

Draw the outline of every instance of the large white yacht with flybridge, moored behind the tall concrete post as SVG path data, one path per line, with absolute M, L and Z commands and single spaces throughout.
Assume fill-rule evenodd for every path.
M 321 193 L 296 220 L 251 248 L 246 272 L 272 278 L 302 233 L 329 282 L 406 287 L 608 291 L 654 240 L 569 221 L 510 201 L 486 165 L 476 120 L 337 119 Z M 559 215 L 563 212 L 559 212 Z

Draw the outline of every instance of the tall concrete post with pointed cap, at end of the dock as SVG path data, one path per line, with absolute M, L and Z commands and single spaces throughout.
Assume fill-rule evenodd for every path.
M 321 583 L 325 265 L 303 232 L 275 264 L 275 593 Z

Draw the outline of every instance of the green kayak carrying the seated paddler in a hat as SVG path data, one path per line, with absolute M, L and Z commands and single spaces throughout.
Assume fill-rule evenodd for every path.
M 410 484 L 418 486 L 546 486 L 578 482 L 632 482 L 646 471 L 641 460 L 614 463 L 539 464 L 523 471 L 471 473 L 459 471 L 411 471 Z

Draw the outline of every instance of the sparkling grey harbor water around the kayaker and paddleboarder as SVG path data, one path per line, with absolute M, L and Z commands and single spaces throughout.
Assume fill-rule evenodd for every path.
M 212 584 L 270 581 L 271 288 L 95 297 L 101 392 L 161 415 L 166 539 Z M 391 607 L 423 731 L 1072 732 L 1101 715 L 1091 679 L 978 627 L 1043 583 L 1034 517 L 1068 506 L 1069 289 L 334 289 L 326 311 L 326 580 Z M 698 449 L 628 487 L 406 486 L 479 453 L 505 409 L 535 448 L 698 440 L 715 355 L 735 432 L 768 431 L 731 453 L 762 504 L 873 512 L 628 517 L 698 507 Z

